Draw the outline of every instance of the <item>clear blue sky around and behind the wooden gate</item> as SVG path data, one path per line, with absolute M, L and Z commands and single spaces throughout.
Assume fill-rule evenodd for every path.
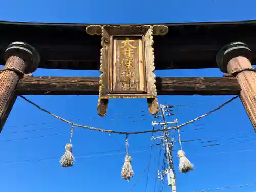
M 256 19 L 256 2 L 249 0 L 195 1 L 3 1 L 0 20 L 63 23 L 171 23 Z M 4 37 L 2 37 L 4 38 Z M 99 76 L 98 71 L 38 69 L 34 76 Z M 222 76 L 219 69 L 157 70 L 162 77 Z M 27 96 L 52 113 L 76 123 L 122 131 L 151 129 L 145 99 L 112 99 L 108 115 L 99 117 L 98 96 Z M 184 104 L 175 110 L 180 123 L 202 115 L 232 96 L 158 96 L 160 103 Z M 136 107 L 135 107 L 136 106 Z M 145 110 L 145 112 L 142 112 Z M 139 115 L 146 116 L 139 117 Z M 132 118 L 125 118 L 131 117 Z M 114 120 L 117 119 L 117 120 Z M 116 125 L 119 124 L 119 125 Z M 204 124 L 203 126 L 196 126 Z M 72 168 L 59 164 L 69 142 L 70 126 L 18 98 L 0 134 L 0 191 L 130 191 L 150 160 L 151 134 L 130 137 L 130 155 L 135 177 L 128 183 L 120 177 L 125 156 L 125 136 L 75 127 Z M 202 129 L 198 129 L 202 128 Z M 197 130 L 195 130 L 197 129 Z M 36 130 L 36 131 L 35 131 Z M 189 174 L 178 173 L 174 152 L 177 191 L 254 183 L 255 133 L 239 99 L 194 124 L 183 127 L 184 140 L 218 140 L 219 146 L 203 147 L 201 141 L 185 143 L 187 157 L 195 165 Z M 156 134 L 159 135 L 159 134 Z M 158 143 L 158 142 L 155 142 Z M 176 147 L 178 149 L 178 146 Z M 160 191 L 156 170 L 163 153 L 152 147 L 146 170 L 132 191 Z M 148 175 L 148 180 L 147 180 Z M 147 186 L 147 190 L 146 190 Z M 155 186 L 155 190 L 154 190 Z M 164 191 L 170 191 L 166 182 Z M 222 191 L 255 191 L 256 186 Z

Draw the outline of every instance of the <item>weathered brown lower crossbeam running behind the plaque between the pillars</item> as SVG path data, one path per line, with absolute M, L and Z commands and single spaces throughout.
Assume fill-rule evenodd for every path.
M 234 77 L 157 77 L 158 95 L 238 95 Z M 98 95 L 98 77 L 30 77 L 19 81 L 22 95 Z

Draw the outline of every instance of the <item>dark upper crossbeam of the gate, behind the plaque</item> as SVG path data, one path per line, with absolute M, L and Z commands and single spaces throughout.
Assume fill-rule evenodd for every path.
M 217 67 L 217 52 L 227 43 L 243 41 L 256 63 L 256 25 L 248 22 L 165 24 L 169 32 L 154 37 L 156 69 Z M 44 24 L 0 22 L 0 63 L 13 41 L 35 46 L 41 55 L 39 68 L 99 70 L 100 36 L 90 36 L 87 24 Z M 17 33 L 18 31 L 18 33 Z M 26 34 L 26 35 L 24 35 Z

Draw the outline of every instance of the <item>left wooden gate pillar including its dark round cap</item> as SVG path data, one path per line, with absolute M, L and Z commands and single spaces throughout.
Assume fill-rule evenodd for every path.
M 0 73 L 0 132 L 17 98 L 15 88 L 24 74 L 38 67 L 40 56 L 29 44 L 13 42 L 5 51 L 5 66 Z

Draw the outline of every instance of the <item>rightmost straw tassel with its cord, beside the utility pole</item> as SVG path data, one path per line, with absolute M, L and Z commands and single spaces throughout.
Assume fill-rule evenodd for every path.
M 181 140 L 180 140 L 180 130 L 178 129 L 179 134 L 179 143 L 180 143 L 180 150 L 178 151 L 178 157 L 180 159 L 179 163 L 179 172 L 181 173 L 188 173 L 190 170 L 193 170 L 193 164 L 186 158 L 185 152 L 182 150 Z

